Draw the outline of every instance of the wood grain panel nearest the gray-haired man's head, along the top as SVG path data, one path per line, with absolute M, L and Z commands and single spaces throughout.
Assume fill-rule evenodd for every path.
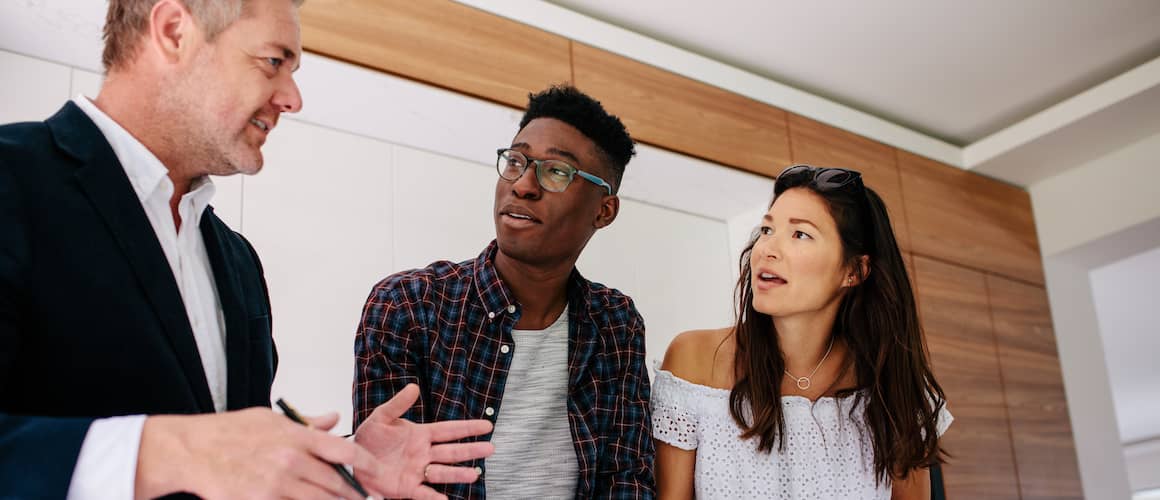
M 310 0 L 300 17 L 311 52 L 521 109 L 571 80 L 567 38 L 450 0 Z

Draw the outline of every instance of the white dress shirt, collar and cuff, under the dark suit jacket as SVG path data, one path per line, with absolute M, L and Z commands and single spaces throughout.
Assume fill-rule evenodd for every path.
M 174 187 L 165 165 L 88 97 L 78 95 L 73 102 L 88 115 L 113 146 L 113 152 L 145 209 L 186 305 L 186 314 L 197 342 L 210 396 L 213 398 L 213 410 L 225 411 L 225 318 L 200 229 L 202 213 L 213 197 L 213 183 L 208 176 L 193 182 L 189 193 L 181 197 L 177 205 L 181 217 L 181 227 L 177 229 L 169 209 Z M 132 499 L 137 450 L 144 425 L 145 415 L 94 421 L 77 458 L 68 485 L 68 499 Z

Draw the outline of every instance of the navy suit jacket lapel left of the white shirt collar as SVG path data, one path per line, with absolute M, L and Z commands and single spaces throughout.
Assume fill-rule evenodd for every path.
M 213 399 L 177 282 L 124 168 L 101 130 L 77 104 L 68 102 L 46 123 L 57 145 L 80 160 L 75 174 L 80 189 L 124 252 L 176 353 L 198 410 L 212 412 Z

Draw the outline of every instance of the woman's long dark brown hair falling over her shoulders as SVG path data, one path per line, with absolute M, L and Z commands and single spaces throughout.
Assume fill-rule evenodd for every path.
M 792 188 L 810 189 L 826 201 L 838 224 L 844 263 L 857 273 L 862 269 L 860 258 L 869 258 L 869 273 L 842 297 L 834 321 L 833 335 L 849 347 L 857 375 L 857 387 L 839 396 L 853 393 L 856 398 L 851 415 L 853 408 L 865 404 L 876 479 L 906 478 L 913 469 L 945 461 L 937 432 L 937 415 L 945 394 L 930 370 L 911 278 L 886 205 L 877 193 L 862 184 L 857 172 L 822 175 L 835 173 L 826 171 L 788 168 L 774 184 L 774 201 Z M 819 182 L 827 179 L 847 182 Z M 754 232 L 740 259 L 733 331 L 737 382 L 730 393 L 730 413 L 742 428 L 742 439 L 756 439 L 757 449 L 770 452 L 775 443 L 778 450 L 785 448 L 781 405 L 785 357 L 778 347 L 773 318 L 753 309 L 749 256 L 757 237 Z

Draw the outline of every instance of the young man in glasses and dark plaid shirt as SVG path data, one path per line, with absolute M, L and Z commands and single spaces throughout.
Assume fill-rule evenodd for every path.
M 619 210 L 632 139 L 573 87 L 498 151 L 495 241 L 379 282 L 355 339 L 355 425 L 406 384 L 415 421 L 484 418 L 495 455 L 455 498 L 652 498 L 644 321 L 577 259 Z

